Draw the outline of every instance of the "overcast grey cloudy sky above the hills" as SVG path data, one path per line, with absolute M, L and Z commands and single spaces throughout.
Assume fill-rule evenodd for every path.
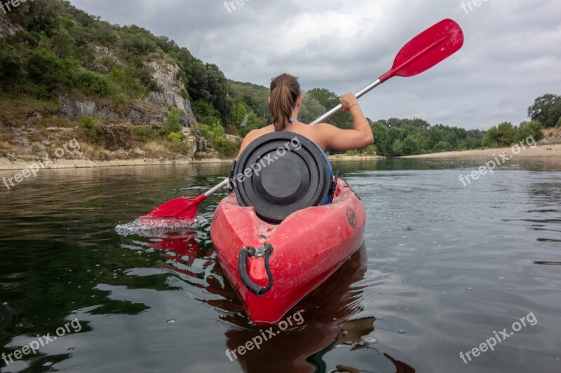
M 229 9 L 224 0 L 71 3 L 111 23 L 168 36 L 228 78 L 269 85 L 288 72 L 304 90 L 337 94 L 376 80 L 420 31 L 443 18 L 456 20 L 464 48 L 419 76 L 393 78 L 365 95 L 360 103 L 372 120 L 417 117 L 468 129 L 518 125 L 536 97 L 561 94 L 561 4 L 555 0 L 245 0 Z

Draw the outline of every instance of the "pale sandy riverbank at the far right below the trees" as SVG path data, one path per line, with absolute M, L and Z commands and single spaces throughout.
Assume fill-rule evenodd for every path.
M 513 151 L 514 150 L 514 151 Z M 520 151 L 519 154 L 515 154 Z M 514 148 L 494 148 L 483 150 L 465 150 L 461 152 L 444 152 L 423 155 L 410 155 L 403 158 L 489 158 L 492 159 L 498 155 L 506 155 L 507 157 L 561 157 L 561 144 L 540 145 L 534 148 L 525 148 L 518 150 Z

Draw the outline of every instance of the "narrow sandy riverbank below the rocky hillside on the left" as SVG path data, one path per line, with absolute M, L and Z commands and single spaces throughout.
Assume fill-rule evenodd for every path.
M 73 169 L 73 168 L 87 168 L 87 167 L 125 167 L 125 166 L 161 166 L 166 164 L 201 164 L 201 163 L 228 163 L 231 160 L 222 160 L 219 158 L 203 158 L 194 160 L 193 158 L 177 158 L 170 159 L 157 159 L 157 158 L 139 158 L 135 160 L 109 160 L 109 161 L 92 161 L 92 160 L 56 160 L 44 164 L 44 169 Z M 32 164 L 37 164 L 34 161 L 15 161 L 0 158 L 0 170 L 19 170 L 29 169 Z

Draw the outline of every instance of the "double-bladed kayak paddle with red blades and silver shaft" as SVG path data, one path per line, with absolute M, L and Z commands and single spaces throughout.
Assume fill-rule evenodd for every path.
M 356 97 L 362 97 L 364 94 L 374 89 L 374 87 L 377 87 L 394 76 L 415 76 L 423 71 L 431 69 L 431 67 L 457 52 L 462 45 L 464 45 L 464 33 L 461 31 L 459 24 L 450 19 L 442 20 L 403 45 L 403 48 L 401 48 L 398 55 L 396 55 L 391 69 L 381 75 L 374 83 L 358 92 Z M 320 118 L 311 122 L 310 125 L 324 122 L 327 118 L 330 118 L 337 113 L 337 111 L 341 110 L 341 108 L 341 104 L 335 106 L 330 111 L 320 116 Z M 142 218 L 194 218 L 197 213 L 198 205 L 228 184 L 229 179 L 225 179 L 222 183 L 219 183 L 214 188 L 195 199 L 172 199 L 156 207 L 154 211 L 151 211 L 147 216 L 143 216 Z

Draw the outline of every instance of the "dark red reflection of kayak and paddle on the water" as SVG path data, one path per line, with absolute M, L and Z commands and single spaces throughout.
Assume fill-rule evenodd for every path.
M 163 258 L 168 260 L 165 268 L 200 279 L 202 272 L 196 272 L 191 266 L 196 258 L 202 260 L 205 267 L 211 266 L 214 260 L 212 250 L 201 251 L 195 231 L 172 232 L 168 236 L 150 243 L 136 242 L 161 251 Z M 215 262 L 206 275 L 203 288 L 217 297 L 205 302 L 219 310 L 219 318 L 227 326 L 224 335 L 231 362 L 237 363 L 244 372 L 327 372 L 325 354 L 345 348 L 384 356 L 397 372 L 414 372 L 409 365 L 376 349 L 376 339 L 368 337 L 374 331 L 374 316 L 353 319 L 363 310 L 361 301 L 365 286 L 361 286 L 360 281 L 364 279 L 366 264 L 366 247 L 363 245 L 327 281 L 285 315 L 285 320 L 296 314 L 301 315 L 301 319 L 295 317 L 282 332 L 279 325 L 273 325 L 268 333 L 268 328 L 250 323 L 241 300 Z M 198 286 L 198 283 L 187 281 Z M 239 349 L 251 341 L 257 342 L 259 349 L 255 344 L 250 345 L 250 350 Z M 371 369 L 371 365 L 337 364 L 336 370 L 330 372 L 370 372 Z

